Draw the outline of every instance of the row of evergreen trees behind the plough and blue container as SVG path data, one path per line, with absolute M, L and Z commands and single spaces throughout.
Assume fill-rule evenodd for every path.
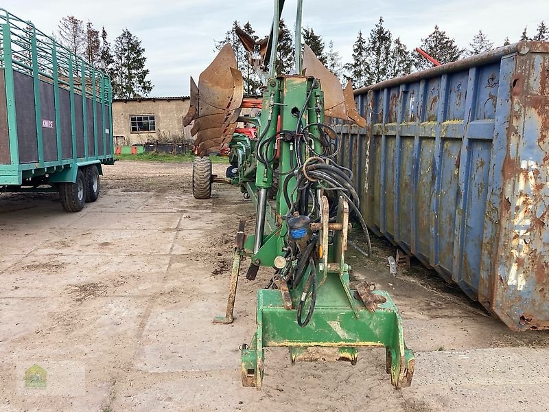
M 259 93 L 261 82 L 253 71 L 248 59 L 248 54 L 240 44 L 235 33 L 236 27 L 240 24 L 235 21 L 231 30 L 226 32 L 226 36 L 221 41 L 215 42 L 215 47 L 220 48 L 226 43 L 231 43 L 237 56 L 237 64 L 244 78 L 244 92 L 253 95 Z M 256 40 L 250 22 L 241 26 L 244 32 L 250 34 Z M 368 84 L 374 84 L 386 79 L 404 76 L 432 67 L 432 63 L 415 52 L 415 47 L 408 48 L 399 37 L 384 27 L 384 20 L 379 17 L 379 21 L 370 31 L 367 38 L 358 32 L 355 43 L 353 44 L 353 54 L 351 61 L 343 62 L 340 52 L 334 47 L 333 41 L 325 41 L 320 34 L 316 34 L 312 27 L 303 28 L 303 42 L 307 43 L 318 59 L 338 78 L 342 83 L 349 80 L 353 82 L 353 87 L 363 87 Z M 517 41 L 549 41 L 549 30 L 544 21 L 537 25 L 533 36 L 528 36 L 528 27 L 524 28 L 521 38 Z M 280 22 L 279 47 L 277 49 L 277 73 L 288 73 L 294 65 L 294 40 L 293 34 L 288 30 L 283 20 Z M 509 45 L 509 37 L 505 38 L 503 45 Z M 454 38 L 451 38 L 439 25 L 434 26 L 434 31 L 421 39 L 421 49 L 432 56 L 441 64 L 453 62 L 460 58 L 473 56 L 493 49 L 494 43 L 488 36 L 479 30 L 471 39 L 468 47 L 460 47 Z M 497 46 L 496 46 L 497 47 Z M 255 56 L 257 57 L 257 56 Z

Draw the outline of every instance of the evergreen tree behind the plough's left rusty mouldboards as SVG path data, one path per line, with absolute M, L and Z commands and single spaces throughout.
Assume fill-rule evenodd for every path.
M 259 80 L 259 76 L 257 76 L 257 73 L 255 73 L 252 67 L 247 50 L 244 49 L 244 46 L 236 34 L 237 27 L 240 27 L 240 23 L 238 21 L 233 21 L 233 27 L 225 33 L 225 38 L 222 41 L 215 42 L 215 48 L 220 50 L 227 43 L 233 47 L 233 52 L 235 53 L 237 62 L 237 69 L 242 72 L 244 93 L 247 95 L 257 95 L 259 94 L 259 88 L 261 87 L 261 80 Z M 255 30 L 253 30 L 249 21 L 244 25 L 244 27 L 242 27 L 242 30 L 257 39 L 257 36 L 255 36 Z M 255 54 L 254 57 L 257 57 L 257 54 Z

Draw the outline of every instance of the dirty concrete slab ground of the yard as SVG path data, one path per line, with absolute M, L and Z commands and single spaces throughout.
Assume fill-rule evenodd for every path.
M 399 306 L 412 387 L 393 389 L 379 349 L 354 367 L 290 365 L 268 349 L 263 389 L 242 387 L 238 346 L 272 273 L 242 277 L 232 325 L 211 319 L 224 313 L 237 222 L 253 227 L 250 201 L 222 185 L 197 201 L 191 163 L 119 161 L 104 173 L 78 214 L 56 194 L 0 196 L 0 412 L 549 409 L 549 334 L 511 332 L 419 264 L 393 277 L 382 240 L 374 260 L 352 248 L 348 259 Z M 24 387 L 34 364 L 47 387 Z

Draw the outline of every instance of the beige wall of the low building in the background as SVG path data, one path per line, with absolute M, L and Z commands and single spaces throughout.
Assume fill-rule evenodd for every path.
M 183 130 L 183 116 L 189 111 L 189 98 L 115 100 L 113 137 L 115 144 L 143 144 L 147 141 L 183 141 L 192 139 L 191 125 Z M 132 132 L 130 115 L 154 115 L 156 131 Z

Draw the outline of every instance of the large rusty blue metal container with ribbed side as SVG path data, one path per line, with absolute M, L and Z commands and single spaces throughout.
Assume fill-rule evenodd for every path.
M 549 43 L 355 91 L 341 125 L 369 228 L 513 330 L 549 329 Z

